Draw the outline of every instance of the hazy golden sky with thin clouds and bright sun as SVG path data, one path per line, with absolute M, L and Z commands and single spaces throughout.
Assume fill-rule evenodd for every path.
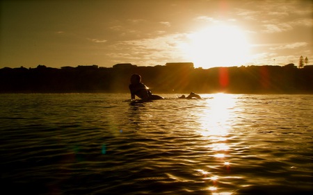
M 0 2 L 0 68 L 313 64 L 310 0 Z

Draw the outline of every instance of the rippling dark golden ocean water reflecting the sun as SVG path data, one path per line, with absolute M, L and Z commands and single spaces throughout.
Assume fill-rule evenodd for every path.
M 313 192 L 313 95 L 162 95 L 0 94 L 2 193 Z

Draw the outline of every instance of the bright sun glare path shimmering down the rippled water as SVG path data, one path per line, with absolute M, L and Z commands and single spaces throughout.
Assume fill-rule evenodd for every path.
M 227 194 L 232 192 L 219 192 L 223 189 L 218 188 L 218 180 L 225 180 L 225 174 L 230 173 L 231 162 L 230 146 L 227 144 L 230 139 L 229 131 L 234 124 L 234 106 L 236 105 L 236 96 L 231 94 L 214 94 L 213 99 L 207 99 L 207 106 L 202 113 L 199 113 L 200 123 L 199 133 L 204 140 L 209 141 L 205 146 L 209 155 L 214 158 L 216 166 L 208 165 L 208 170 L 198 169 L 204 179 L 209 183 L 208 190 L 212 194 Z M 220 171 L 222 170 L 222 171 Z M 220 175 L 220 176 L 219 176 Z

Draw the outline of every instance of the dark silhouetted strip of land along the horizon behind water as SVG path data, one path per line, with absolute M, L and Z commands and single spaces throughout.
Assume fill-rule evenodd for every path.
M 193 63 L 0 69 L 0 93 L 125 93 L 131 74 L 156 93 L 313 94 L 313 65 L 195 69 Z

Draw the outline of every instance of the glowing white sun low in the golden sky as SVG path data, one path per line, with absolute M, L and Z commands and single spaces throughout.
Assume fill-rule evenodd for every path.
M 187 35 L 181 49 L 186 60 L 195 67 L 239 66 L 248 62 L 249 44 L 238 26 L 219 24 Z

